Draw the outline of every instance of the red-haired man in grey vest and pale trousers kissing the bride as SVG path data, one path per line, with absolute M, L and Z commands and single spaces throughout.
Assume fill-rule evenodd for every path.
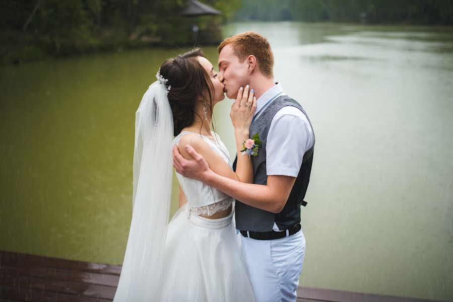
M 185 160 L 175 146 L 173 165 L 183 176 L 237 200 L 236 228 L 242 235 L 241 253 L 256 301 L 295 301 L 305 255 L 300 205 L 306 205 L 313 129 L 299 103 L 274 82 L 274 55 L 265 37 L 255 32 L 236 34 L 218 50 L 219 79 L 227 97 L 235 99 L 239 87 L 248 84 L 257 98 L 249 131 L 250 136 L 258 133 L 262 141 L 252 157 L 254 184 L 215 174 L 189 145 L 186 149 L 194 160 Z

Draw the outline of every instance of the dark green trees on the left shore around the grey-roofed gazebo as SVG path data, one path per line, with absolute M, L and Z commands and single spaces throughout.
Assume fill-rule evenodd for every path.
M 221 39 L 220 24 L 241 0 L 202 0 L 220 17 L 180 17 L 188 0 L 9 0 L 0 3 L 2 62 L 31 60 L 150 43 L 192 43 L 192 25 L 200 42 Z

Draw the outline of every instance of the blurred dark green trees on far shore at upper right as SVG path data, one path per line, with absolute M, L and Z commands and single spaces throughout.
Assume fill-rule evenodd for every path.
M 453 1 L 243 0 L 236 20 L 453 25 Z

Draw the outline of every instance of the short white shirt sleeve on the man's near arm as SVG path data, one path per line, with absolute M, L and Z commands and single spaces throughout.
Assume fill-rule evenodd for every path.
M 287 106 L 274 116 L 266 141 L 267 175 L 297 177 L 305 152 L 313 145 L 313 131 L 299 109 Z

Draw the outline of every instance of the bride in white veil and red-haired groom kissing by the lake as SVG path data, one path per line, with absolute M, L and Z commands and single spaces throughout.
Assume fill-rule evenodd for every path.
M 133 215 L 114 301 L 296 300 L 313 129 L 275 83 L 265 37 L 236 34 L 218 51 L 218 71 L 198 48 L 165 60 L 136 112 Z M 235 99 L 234 163 L 211 130 L 225 93 Z M 179 209 L 169 221 L 172 166 Z

